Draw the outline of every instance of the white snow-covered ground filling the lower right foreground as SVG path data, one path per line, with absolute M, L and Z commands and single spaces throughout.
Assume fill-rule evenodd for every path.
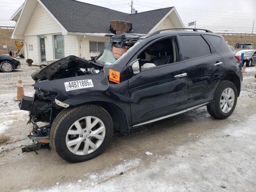
M 241 117 L 206 138 L 159 156 L 150 165 L 134 160 L 81 182 L 36 191 L 252 191 L 256 180 L 255 119 L 256 114 Z M 147 157 L 153 161 L 152 156 Z

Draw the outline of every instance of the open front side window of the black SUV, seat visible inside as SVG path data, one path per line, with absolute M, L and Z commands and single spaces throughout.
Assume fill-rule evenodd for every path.
M 141 59 L 141 70 L 178 61 L 176 39 L 165 38 L 147 46 L 137 57 Z

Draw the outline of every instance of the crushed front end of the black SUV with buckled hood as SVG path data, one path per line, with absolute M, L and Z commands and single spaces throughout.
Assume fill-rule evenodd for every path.
M 23 96 L 19 108 L 30 112 L 28 124 L 32 124 L 32 130 L 28 137 L 34 144 L 22 148 L 22 152 L 49 148 L 52 122 L 61 110 L 70 106 L 63 101 L 94 88 L 68 92 L 64 86 L 65 82 L 79 81 L 87 75 L 94 74 L 99 74 L 103 78 L 103 66 L 76 56 L 58 60 L 32 74 L 32 79 L 35 80 L 35 84 L 32 85 L 35 89 L 34 96 Z M 90 78 L 96 85 L 97 77 Z M 38 126 L 38 122 L 44 122 L 46 125 Z

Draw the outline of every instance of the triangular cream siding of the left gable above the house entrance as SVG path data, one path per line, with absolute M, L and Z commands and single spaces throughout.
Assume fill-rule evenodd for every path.
M 30 18 L 24 36 L 60 33 L 62 29 L 48 12 L 38 3 Z

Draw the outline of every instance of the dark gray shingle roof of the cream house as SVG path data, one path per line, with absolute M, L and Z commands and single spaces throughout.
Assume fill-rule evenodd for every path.
M 173 7 L 128 14 L 76 0 L 41 0 L 68 32 L 111 33 L 110 21 L 132 22 L 133 33 L 147 34 Z

